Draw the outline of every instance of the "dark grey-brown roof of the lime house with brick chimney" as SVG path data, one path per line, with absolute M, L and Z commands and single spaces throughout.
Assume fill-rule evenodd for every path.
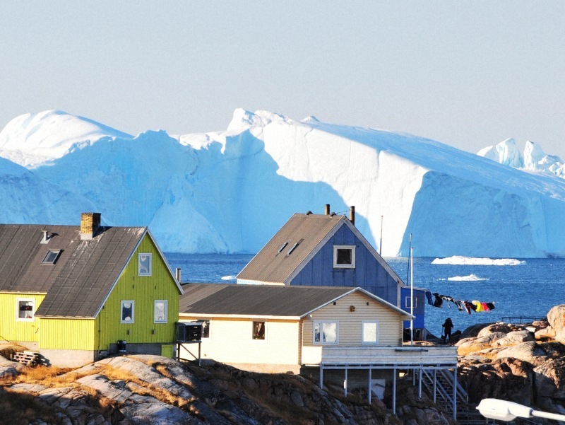
M 145 227 L 101 227 L 81 240 L 80 226 L 0 224 L 0 291 L 47 293 L 37 316 L 95 317 Z M 40 243 L 48 231 L 48 243 Z M 42 264 L 61 250 L 55 264 Z

